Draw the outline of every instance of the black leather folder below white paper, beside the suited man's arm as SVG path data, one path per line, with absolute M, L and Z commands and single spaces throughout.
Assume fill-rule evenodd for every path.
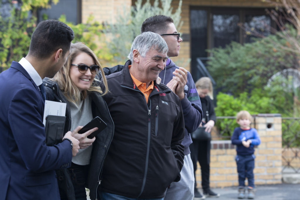
M 46 145 L 52 146 L 60 143 L 64 136 L 65 116 L 48 115 L 46 117 Z

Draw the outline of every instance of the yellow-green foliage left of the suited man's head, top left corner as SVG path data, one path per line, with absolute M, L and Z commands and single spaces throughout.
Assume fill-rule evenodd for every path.
M 52 1 L 54 4 L 58 0 Z M 0 1 L 0 6 L 4 1 Z M 49 0 L 24 0 L 5 2 L 6 13 L 0 15 L 0 67 L 10 66 L 28 53 L 30 38 L 36 27 L 35 13 L 39 8 L 48 8 Z M 1 71 L 1 70 L 0 70 Z

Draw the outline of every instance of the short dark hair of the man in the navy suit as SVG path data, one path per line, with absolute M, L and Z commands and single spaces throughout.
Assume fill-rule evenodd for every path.
M 64 56 L 73 39 L 73 30 L 65 23 L 52 19 L 42 21 L 32 33 L 29 54 L 36 58 L 46 58 L 62 49 Z

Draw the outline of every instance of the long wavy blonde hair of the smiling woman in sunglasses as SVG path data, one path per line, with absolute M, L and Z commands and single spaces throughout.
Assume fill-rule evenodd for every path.
M 104 83 L 105 87 L 104 93 L 101 87 L 99 86 L 100 80 L 96 78 L 97 76 L 100 76 L 100 74 L 96 74 L 94 81 L 88 90 L 80 91 L 77 88 L 77 86 L 72 82 L 70 78 L 71 64 L 74 58 L 76 58 L 76 56 L 81 52 L 85 52 L 86 54 L 90 55 L 93 58 L 95 64 L 97 64 L 100 67 L 102 76 L 101 81 Z M 69 102 L 74 103 L 75 105 L 79 105 L 80 101 L 84 100 L 87 94 L 91 91 L 99 92 L 101 95 L 104 95 L 108 92 L 108 86 L 104 75 L 104 71 L 98 61 L 97 56 L 90 48 L 88 48 L 85 44 L 82 44 L 81 42 L 71 44 L 70 55 L 68 56 L 67 62 L 51 80 L 58 83 L 59 88 L 61 89 L 67 100 Z

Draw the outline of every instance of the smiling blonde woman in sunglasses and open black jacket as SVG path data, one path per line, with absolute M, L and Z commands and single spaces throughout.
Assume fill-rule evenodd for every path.
M 104 91 L 95 78 L 97 74 L 102 76 Z M 102 98 L 108 88 L 95 53 L 82 43 L 72 44 L 64 67 L 52 79 L 45 79 L 44 85 L 47 100 L 67 103 L 65 130 L 74 130 L 74 137 L 80 142 L 79 152 L 73 157 L 68 173 L 58 172 L 61 199 L 86 199 L 85 187 L 90 189 L 90 195 L 96 196 L 114 125 Z M 96 116 L 107 124 L 101 133 L 92 139 L 87 136 L 97 128 L 77 133 Z

